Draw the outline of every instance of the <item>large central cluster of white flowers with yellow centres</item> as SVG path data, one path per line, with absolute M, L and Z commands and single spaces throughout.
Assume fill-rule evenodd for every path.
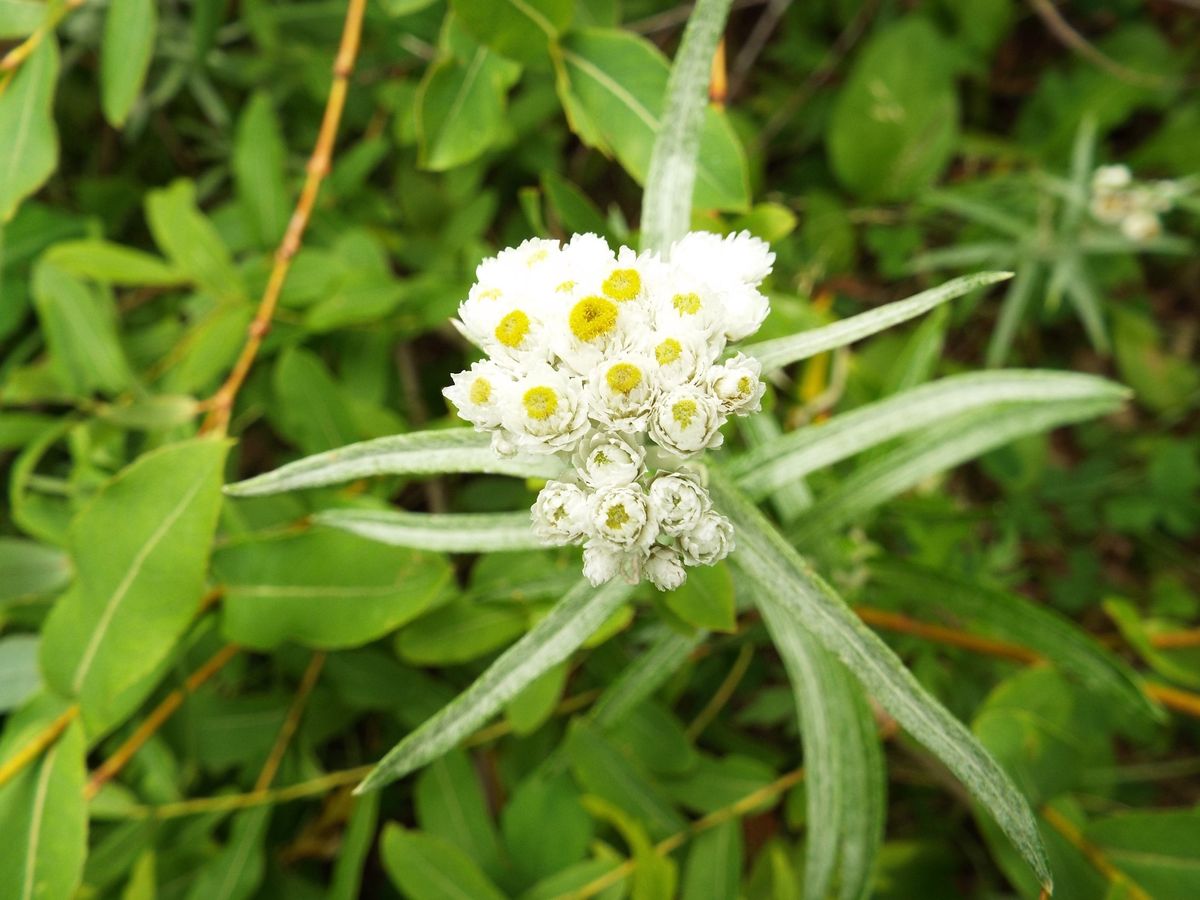
M 733 544 L 689 457 L 756 412 L 757 360 L 726 346 L 767 317 L 775 256 L 748 233 L 694 232 L 666 258 L 594 234 L 527 240 L 485 259 L 455 325 L 487 354 L 443 392 L 497 454 L 559 454 L 571 480 L 533 506 L 546 544 L 582 544 L 583 574 L 662 590 Z M 649 446 L 647 442 L 656 446 Z M 650 469 L 654 469 L 653 472 Z

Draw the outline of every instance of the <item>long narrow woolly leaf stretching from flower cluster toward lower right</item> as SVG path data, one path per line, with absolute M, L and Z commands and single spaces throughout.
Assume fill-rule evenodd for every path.
M 863 686 L 962 781 L 1037 872 L 1051 877 L 1025 798 L 971 732 L 931 696 L 900 659 L 812 571 L 782 535 L 720 472 L 713 499 L 737 529 L 733 559 L 761 590 L 761 602 L 808 629 Z

